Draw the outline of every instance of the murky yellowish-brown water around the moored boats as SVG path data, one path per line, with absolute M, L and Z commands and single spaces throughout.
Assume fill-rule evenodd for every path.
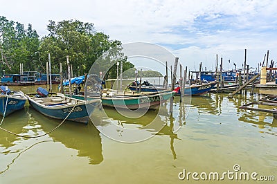
M 37 86 L 21 87 L 33 93 Z M 17 89 L 12 88 L 11 89 Z M 42 138 L 19 138 L 0 130 L 0 183 L 211 183 L 179 180 L 186 172 L 257 172 L 277 181 L 277 120 L 272 114 L 245 111 L 238 107 L 260 98 L 211 94 L 193 97 L 186 120 L 175 98 L 174 120 L 184 125 L 172 131 L 172 119 L 162 113 L 157 119 L 166 126 L 152 138 L 123 143 L 102 135 L 98 129 L 111 124 L 149 132 L 145 125 L 156 116 L 150 111 L 132 120 L 106 109 L 105 123 L 94 127 L 66 122 Z M 167 104 L 165 109 L 168 109 Z M 171 122 L 170 122 L 171 121 Z M 16 134 L 35 136 L 55 128 L 60 120 L 47 118 L 28 106 L 5 118 L 1 127 Z M 125 136 L 118 131 L 116 136 Z M 199 176 L 198 176 L 199 178 Z M 254 183 L 227 178 L 217 183 Z M 262 183 L 262 181 L 256 181 Z

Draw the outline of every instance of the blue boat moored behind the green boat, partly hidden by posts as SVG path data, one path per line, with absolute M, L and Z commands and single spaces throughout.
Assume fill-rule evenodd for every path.
M 204 93 L 207 93 L 208 91 L 211 91 L 211 89 L 213 88 L 213 86 L 215 86 L 215 84 L 217 84 L 217 81 L 213 81 L 213 82 L 208 82 L 205 84 L 193 84 L 190 86 L 186 86 L 185 87 L 185 95 L 203 95 Z M 131 91 L 136 91 L 136 87 L 135 86 L 131 86 L 129 85 L 128 88 Z M 139 90 L 139 87 L 137 87 L 137 90 Z M 154 91 L 162 91 L 164 90 L 164 88 L 160 87 L 160 86 L 141 86 L 141 91 L 148 91 L 148 92 L 154 92 Z M 180 95 L 180 88 L 177 87 L 175 88 L 175 93 L 176 95 Z

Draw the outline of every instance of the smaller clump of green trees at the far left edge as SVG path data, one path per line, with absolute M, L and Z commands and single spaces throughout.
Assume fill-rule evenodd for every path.
M 19 73 L 19 63 L 24 64 L 25 70 L 37 69 L 38 48 L 39 35 L 30 24 L 25 30 L 23 24 L 0 17 L 0 72 Z

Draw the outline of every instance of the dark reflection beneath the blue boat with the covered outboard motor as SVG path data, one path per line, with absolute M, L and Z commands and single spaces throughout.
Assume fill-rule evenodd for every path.
M 43 116 L 31 108 L 28 112 L 41 125 L 44 132 L 51 131 L 60 122 Z M 64 146 L 78 150 L 78 156 L 89 158 L 89 164 L 99 164 L 103 160 L 100 132 L 91 122 L 87 126 L 66 122 L 62 127 L 48 135 L 53 140 L 62 142 Z

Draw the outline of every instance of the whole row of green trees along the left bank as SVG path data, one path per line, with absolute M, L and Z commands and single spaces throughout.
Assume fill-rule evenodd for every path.
M 89 73 L 92 64 L 101 55 L 104 57 L 101 58 L 98 69 L 103 71 L 106 77 L 116 76 L 114 61 L 123 61 L 123 70 L 134 67 L 121 53 L 121 42 L 96 32 L 91 23 L 78 20 L 57 23 L 49 21 L 47 30 L 48 35 L 39 39 L 30 24 L 24 29 L 23 24 L 0 17 L 0 73 L 3 69 L 6 73 L 19 73 L 19 63 L 24 64 L 24 71 L 46 73 L 48 53 L 51 55 L 52 73 L 60 72 L 60 63 L 66 73 L 66 55 L 69 55 L 74 76 Z M 116 49 L 109 50 L 110 48 Z M 112 67 L 105 71 L 109 66 Z

